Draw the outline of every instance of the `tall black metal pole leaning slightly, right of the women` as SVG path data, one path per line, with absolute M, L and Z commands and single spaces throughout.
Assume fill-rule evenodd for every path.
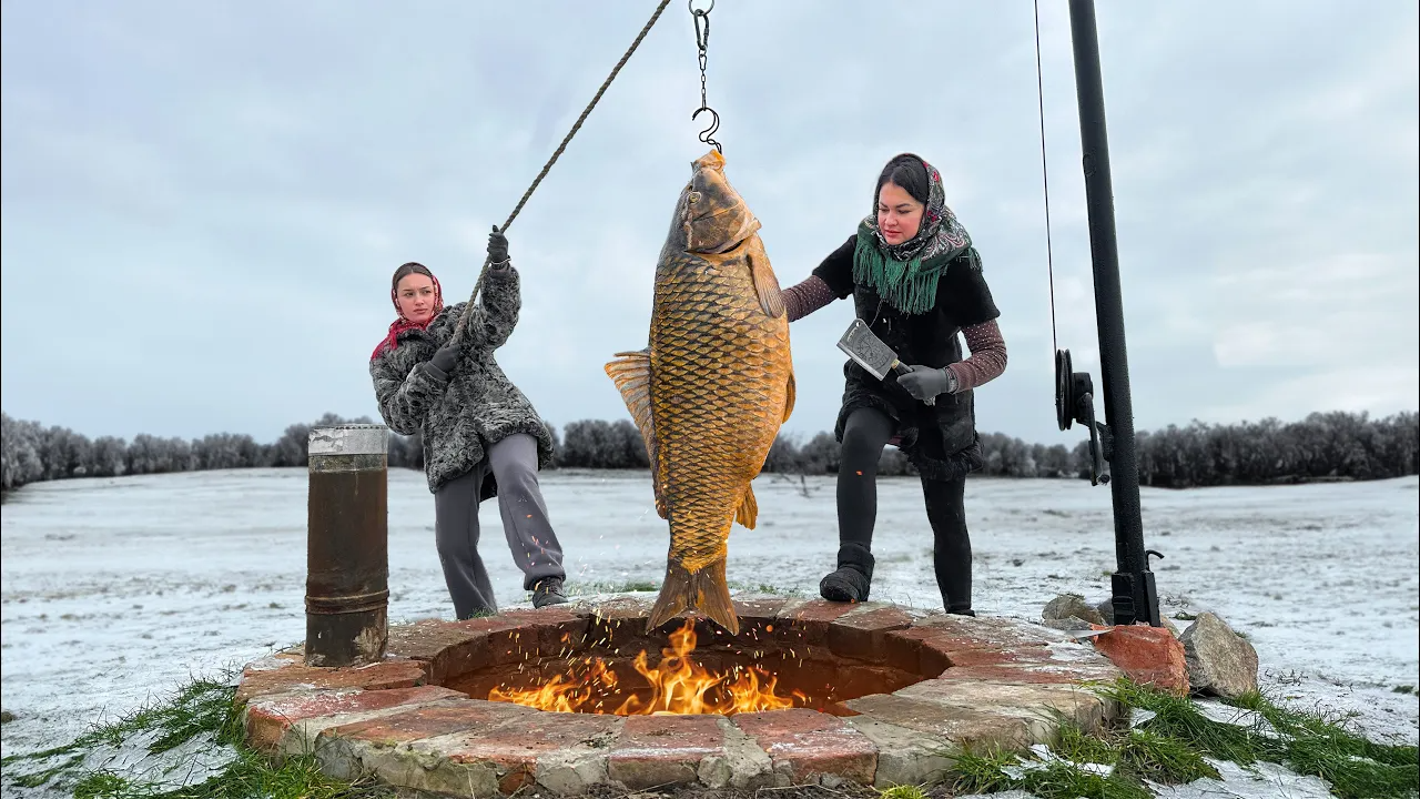
M 1113 439 L 1109 454 L 1109 489 L 1115 503 L 1118 560 L 1118 570 L 1112 579 L 1115 624 L 1147 621 L 1159 627 L 1159 596 L 1153 572 L 1149 570 L 1149 554 L 1145 552 L 1139 505 L 1135 411 L 1129 400 L 1129 358 L 1125 353 L 1125 300 L 1119 287 L 1115 192 L 1109 179 L 1105 85 L 1099 71 L 1099 34 L 1095 28 L 1093 0 L 1069 0 L 1069 27 L 1075 48 L 1075 94 L 1079 100 L 1089 249 L 1095 267 L 1095 318 L 1099 327 L 1105 424 Z

